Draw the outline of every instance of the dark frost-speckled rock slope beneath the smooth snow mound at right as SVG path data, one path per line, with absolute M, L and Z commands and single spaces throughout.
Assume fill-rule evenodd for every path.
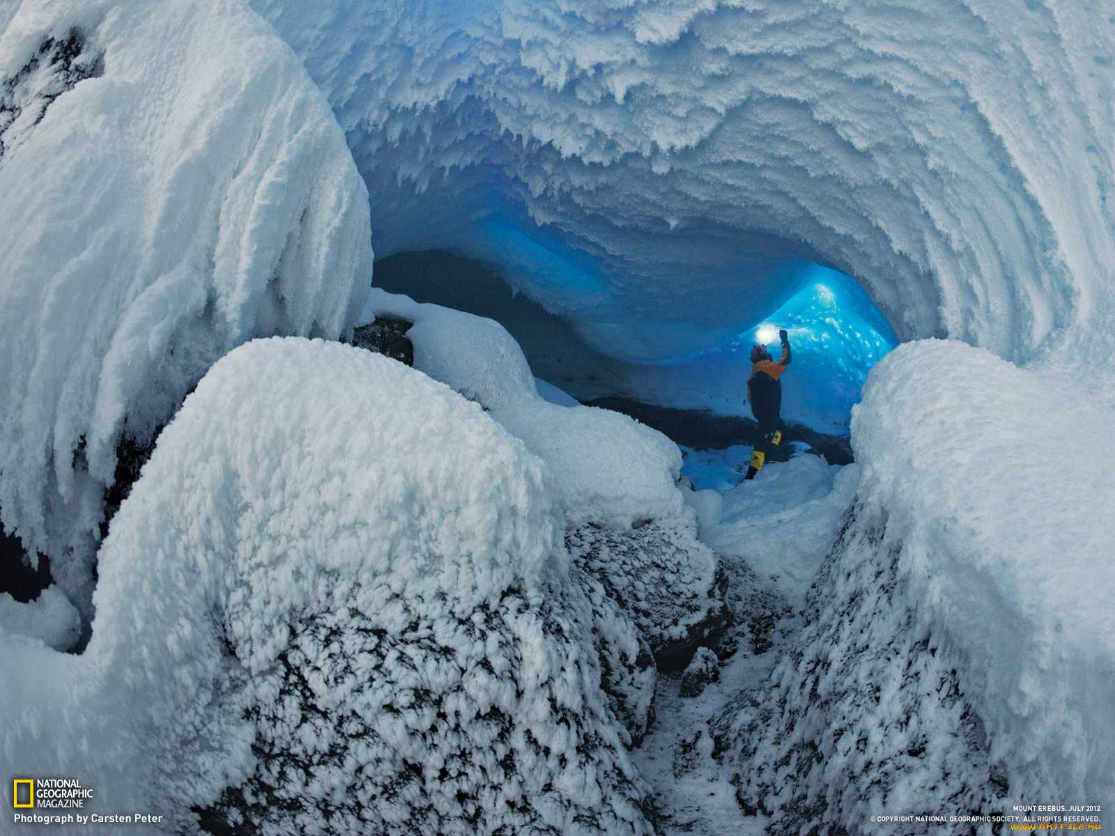
M 1008 809 L 958 660 L 917 625 L 896 562 L 884 565 L 879 546 L 878 532 L 845 534 L 792 651 L 715 723 L 740 805 L 772 832 L 889 834 L 894 825 L 874 817 Z M 991 833 L 935 822 L 902 832 Z

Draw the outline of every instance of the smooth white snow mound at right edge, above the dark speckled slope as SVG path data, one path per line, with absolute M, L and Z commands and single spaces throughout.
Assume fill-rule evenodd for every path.
M 853 414 L 861 531 L 954 660 L 1017 804 L 1115 794 L 1112 411 L 1063 362 L 903 346 Z M 1084 801 L 1084 804 L 1088 804 Z

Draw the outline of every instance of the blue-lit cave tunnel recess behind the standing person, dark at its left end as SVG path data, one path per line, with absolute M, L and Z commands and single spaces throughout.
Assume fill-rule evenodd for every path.
M 784 387 L 783 416 L 820 432 L 847 432 L 852 406 L 871 367 L 898 344 L 886 319 L 860 285 L 837 270 L 804 262 L 766 308 L 740 311 L 725 329 L 701 321 L 640 320 L 641 358 L 630 342 L 594 340 L 603 327 L 552 313 L 517 292 L 508 271 L 447 250 L 400 252 L 376 262 L 374 283 L 419 302 L 455 308 L 503 324 L 523 348 L 534 375 L 581 402 L 630 399 L 656 407 L 750 416 L 746 381 L 755 342 L 777 358 L 779 328 L 794 350 Z M 614 319 L 614 318 L 613 318 Z M 671 331 L 683 337 L 669 338 Z M 667 334 L 651 351 L 650 333 Z M 686 351 L 687 347 L 697 350 Z M 619 350 L 617 350 L 619 349 Z M 624 356 L 623 349 L 629 349 Z M 677 353 L 671 353 L 677 351 Z M 646 354 L 650 353 L 650 357 Z M 544 387 L 542 387 L 544 388 Z M 551 396 L 553 397 L 553 396 Z

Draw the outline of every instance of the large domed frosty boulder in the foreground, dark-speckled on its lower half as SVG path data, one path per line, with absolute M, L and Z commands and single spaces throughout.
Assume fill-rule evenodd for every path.
M 594 652 L 638 638 L 570 577 L 561 522 L 544 465 L 442 383 L 250 342 L 113 521 L 81 674 L 46 694 L 80 713 L 26 722 L 25 693 L 0 742 L 168 829 L 649 834 Z

